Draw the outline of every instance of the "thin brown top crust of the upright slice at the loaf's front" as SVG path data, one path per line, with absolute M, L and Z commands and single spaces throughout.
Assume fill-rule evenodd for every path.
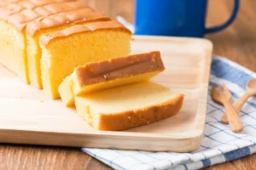
M 79 26 L 71 26 L 67 29 L 62 31 L 55 31 L 49 34 L 43 35 L 40 37 L 39 41 L 42 45 L 47 46 L 49 42 L 54 40 L 55 38 L 60 37 L 67 37 L 73 34 L 81 33 L 81 32 L 88 32 L 88 31 L 101 31 L 101 30 L 112 30 L 112 31 L 125 31 L 128 34 L 131 34 L 125 26 L 121 25 L 116 20 L 109 20 L 109 21 L 102 21 L 102 22 L 95 22 L 90 24 L 84 24 Z

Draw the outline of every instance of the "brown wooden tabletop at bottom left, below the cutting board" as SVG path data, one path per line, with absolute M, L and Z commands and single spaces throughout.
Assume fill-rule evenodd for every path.
M 2 144 L 0 169 L 110 169 L 77 148 Z

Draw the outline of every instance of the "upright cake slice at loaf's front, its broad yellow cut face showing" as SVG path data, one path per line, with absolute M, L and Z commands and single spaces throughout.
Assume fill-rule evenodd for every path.
M 113 59 L 130 53 L 131 31 L 118 21 L 71 26 L 40 37 L 44 91 L 59 99 L 58 88 L 74 68 L 90 62 Z

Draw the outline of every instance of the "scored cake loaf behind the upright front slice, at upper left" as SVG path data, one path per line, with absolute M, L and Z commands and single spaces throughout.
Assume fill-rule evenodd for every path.
M 23 82 L 43 88 L 38 37 L 74 24 L 101 20 L 110 19 L 82 0 L 1 1 L 0 63 L 18 73 Z

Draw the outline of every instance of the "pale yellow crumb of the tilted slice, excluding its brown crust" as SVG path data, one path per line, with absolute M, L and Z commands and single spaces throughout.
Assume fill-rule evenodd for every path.
M 59 87 L 59 93 L 61 94 L 62 102 L 67 106 L 74 105 L 74 96 L 90 93 L 106 88 L 118 87 L 125 84 L 131 84 L 133 82 L 143 82 L 149 80 L 151 77 L 159 74 L 160 71 L 152 71 L 144 74 L 139 74 L 131 77 L 119 77 L 115 80 L 108 82 L 100 82 L 96 84 L 87 85 L 84 87 L 79 86 L 78 77 L 74 73 L 64 79 Z

